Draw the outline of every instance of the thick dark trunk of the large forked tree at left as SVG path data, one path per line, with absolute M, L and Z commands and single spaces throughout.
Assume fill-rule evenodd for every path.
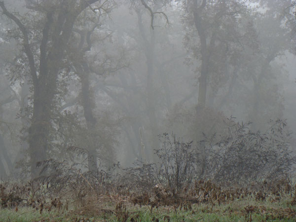
M 53 23 L 51 12 L 48 13 L 47 22 L 43 29 L 43 37 L 40 44 L 39 76 L 34 83 L 34 108 L 32 123 L 29 129 L 29 152 L 33 177 L 38 176 L 37 163 L 47 159 L 46 152 L 50 148 L 49 134 L 53 110 L 52 103 L 57 90 L 56 81 L 75 21 L 75 15 L 68 14 L 68 17 L 66 17 L 65 11 L 67 12 L 73 9 L 73 7 L 72 2 L 69 4 L 63 4 L 62 2 L 57 21 Z M 61 24 L 64 25 L 62 26 Z M 49 49 L 47 56 L 46 45 L 50 37 L 49 30 L 52 26 L 54 29 L 52 47 Z

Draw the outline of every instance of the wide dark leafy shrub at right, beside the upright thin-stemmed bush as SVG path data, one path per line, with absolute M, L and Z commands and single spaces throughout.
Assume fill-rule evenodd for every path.
M 270 121 L 265 133 L 253 132 L 251 123 L 232 121 L 227 136 L 207 138 L 205 178 L 217 182 L 248 184 L 285 177 L 296 163 L 283 120 Z

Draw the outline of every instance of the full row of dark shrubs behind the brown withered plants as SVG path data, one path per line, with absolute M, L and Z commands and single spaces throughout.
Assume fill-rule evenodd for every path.
M 161 184 L 177 194 L 199 180 L 211 180 L 222 186 L 247 186 L 264 180 L 289 178 L 294 172 L 296 156 L 289 144 L 290 134 L 285 121 L 271 120 L 263 133 L 250 130 L 251 123 L 230 119 L 227 125 L 227 133 L 204 135 L 204 140 L 198 143 L 184 142 L 174 133 L 159 135 L 161 147 L 155 149 L 158 162 L 137 160 L 126 169 L 118 163 L 100 166 L 98 172 L 91 173 L 85 162 L 87 149 L 69 147 L 68 160 L 50 159 L 38 163 L 41 176 L 37 180 L 67 187 L 82 178 L 93 181 L 94 186 L 109 183 L 116 184 L 111 187 L 139 192 Z

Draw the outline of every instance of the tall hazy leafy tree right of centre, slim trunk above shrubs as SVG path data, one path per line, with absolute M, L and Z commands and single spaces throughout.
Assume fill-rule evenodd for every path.
M 239 27 L 244 24 L 242 18 L 248 10 L 240 0 L 184 0 L 182 5 L 186 27 L 185 47 L 192 58 L 200 60 L 197 69 L 198 104 L 205 107 L 209 84 L 226 77 L 227 57 L 231 57 L 240 44 Z M 217 88 L 213 90 L 217 92 Z

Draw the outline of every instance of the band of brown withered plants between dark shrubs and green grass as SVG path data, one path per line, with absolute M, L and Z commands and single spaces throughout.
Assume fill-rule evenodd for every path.
M 151 214 L 158 211 L 167 212 L 159 218 L 154 217 L 152 221 L 170 221 L 169 212 L 176 215 L 189 212 L 194 215 L 196 209 L 203 206 L 203 211 L 213 213 L 217 212 L 218 206 L 230 206 L 239 200 L 246 203 L 253 201 L 256 205 L 245 205 L 240 210 L 224 208 L 224 211 L 220 210 L 221 213 L 244 215 L 245 221 L 248 222 L 253 220 L 254 214 L 263 215 L 267 221 L 296 219 L 296 187 L 288 179 L 258 182 L 251 187 L 223 187 L 210 180 L 200 180 L 177 194 L 171 192 L 168 186 L 160 184 L 141 193 L 126 192 L 124 187 L 115 184 L 108 185 L 116 187 L 113 189 L 92 189 L 91 183 L 88 178 L 80 178 L 77 182 L 79 185 L 64 189 L 68 189 L 67 193 L 54 193 L 53 185 L 37 180 L 23 185 L 3 183 L 0 185 L 1 208 L 10 208 L 17 212 L 20 207 L 26 206 L 40 214 L 43 211 L 67 213 L 69 216 L 77 215 L 76 221 L 87 221 L 87 218 L 94 217 L 108 219 L 113 216 L 121 222 L 141 221 L 139 210 L 144 208 Z M 283 202 L 286 202 L 286 206 L 268 207 L 268 203 Z

